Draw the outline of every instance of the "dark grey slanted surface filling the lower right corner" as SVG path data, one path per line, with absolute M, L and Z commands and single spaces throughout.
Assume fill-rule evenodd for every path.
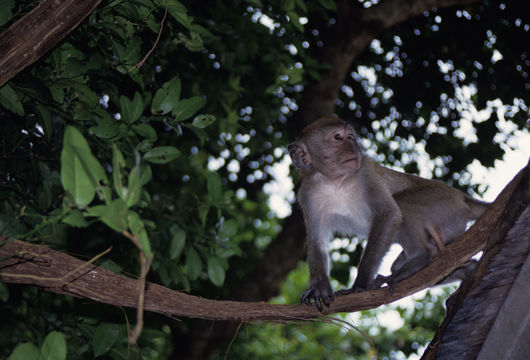
M 527 166 L 508 206 L 498 222 L 490 226 L 492 230 L 479 266 L 453 296 L 452 306 L 423 359 L 476 359 L 481 351 L 488 353 L 490 358 L 499 359 L 519 358 L 509 355 L 511 352 L 528 355 L 521 342 L 524 343 L 524 329 L 530 326 L 527 315 L 529 202 L 530 171 Z M 499 329 L 496 334 L 490 334 L 496 321 L 501 323 Z

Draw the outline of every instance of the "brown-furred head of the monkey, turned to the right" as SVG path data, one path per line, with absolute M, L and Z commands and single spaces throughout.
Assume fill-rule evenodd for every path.
M 362 152 L 353 127 L 335 117 L 323 117 L 308 125 L 300 139 L 287 149 L 303 175 L 319 172 L 336 178 L 361 166 Z

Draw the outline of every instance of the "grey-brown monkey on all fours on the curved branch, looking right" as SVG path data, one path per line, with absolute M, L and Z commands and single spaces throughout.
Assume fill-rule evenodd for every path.
M 335 117 L 307 126 L 288 150 L 301 174 L 297 201 L 307 229 L 310 280 L 300 301 L 314 301 L 320 311 L 335 298 L 327 251 L 335 235 L 368 240 L 352 288 L 337 295 L 392 286 L 426 266 L 488 205 L 442 182 L 377 164 L 363 153 L 353 128 Z M 392 243 L 403 248 L 392 275 L 376 277 Z

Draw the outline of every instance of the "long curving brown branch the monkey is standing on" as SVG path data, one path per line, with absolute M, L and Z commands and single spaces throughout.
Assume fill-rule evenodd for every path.
M 522 170 L 504 189 L 486 213 L 462 237 L 449 244 L 424 270 L 398 284 L 391 293 L 387 288 L 337 298 L 324 314 L 370 309 L 396 301 L 427 286 L 436 284 L 453 269 L 480 251 L 491 234 L 506 234 L 509 224 L 521 211 L 503 214 L 508 202 L 526 202 L 524 181 L 529 167 Z M 521 181 L 521 179 L 523 179 Z M 522 200 L 521 200 L 522 199 Z M 520 207 L 518 206 L 517 209 Z M 508 224 L 508 225 L 507 225 Z M 5 239 L 4 239 L 5 240 Z M 0 248 L 0 276 L 8 283 L 40 286 L 48 291 L 89 298 L 101 303 L 137 307 L 138 281 L 117 275 L 70 255 L 21 241 L 7 242 Z M 321 315 L 315 307 L 305 305 L 272 305 L 265 302 L 214 301 L 163 286 L 147 283 L 144 309 L 172 316 L 210 320 L 310 319 Z

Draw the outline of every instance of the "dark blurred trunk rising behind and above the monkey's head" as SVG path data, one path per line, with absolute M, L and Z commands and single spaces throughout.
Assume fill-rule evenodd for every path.
M 335 25 L 323 39 L 317 59 L 328 70 L 319 81 L 305 87 L 294 127 L 301 131 L 306 125 L 325 115 L 333 114 L 339 90 L 348 76 L 353 60 L 383 30 L 421 15 L 434 8 L 463 6 L 479 0 L 388 0 L 368 9 L 351 1 L 339 1 Z M 311 23 L 310 23 L 311 25 Z

